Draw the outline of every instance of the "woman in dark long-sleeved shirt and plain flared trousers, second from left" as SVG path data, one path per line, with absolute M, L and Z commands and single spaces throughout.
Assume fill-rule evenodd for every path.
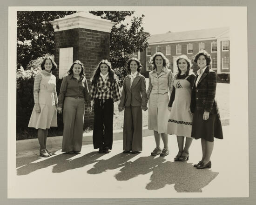
M 87 112 L 91 112 L 90 95 L 80 60 L 74 61 L 67 73 L 61 83 L 57 108 L 61 113 L 64 106 L 62 152 L 80 154 L 85 105 Z

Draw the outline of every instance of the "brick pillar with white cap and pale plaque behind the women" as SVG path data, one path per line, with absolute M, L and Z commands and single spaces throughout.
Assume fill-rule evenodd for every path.
M 90 88 L 90 79 L 97 64 L 109 59 L 110 31 L 115 24 L 91 13 L 79 11 L 64 18 L 50 21 L 54 27 L 55 75 L 63 78 L 75 60 L 80 60 L 85 68 L 85 76 Z M 85 113 L 85 125 L 92 125 L 93 113 Z

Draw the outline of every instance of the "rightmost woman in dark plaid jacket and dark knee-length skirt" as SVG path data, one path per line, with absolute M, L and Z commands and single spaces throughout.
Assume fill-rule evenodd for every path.
M 214 138 L 223 139 L 219 109 L 215 99 L 217 75 L 209 68 L 211 56 L 204 50 L 195 55 L 200 67 L 191 92 L 190 110 L 193 114 L 191 137 L 201 138 L 202 159 L 197 169 L 211 168 Z

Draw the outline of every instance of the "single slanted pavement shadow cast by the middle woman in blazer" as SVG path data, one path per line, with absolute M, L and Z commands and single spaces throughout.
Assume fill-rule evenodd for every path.
M 101 159 L 94 165 L 93 168 L 87 171 L 88 174 L 100 174 L 102 172 L 106 172 L 107 170 L 117 169 L 121 166 L 125 166 L 132 162 L 127 162 L 128 160 L 135 157 L 136 154 L 130 153 L 120 153 L 111 157 L 109 159 Z

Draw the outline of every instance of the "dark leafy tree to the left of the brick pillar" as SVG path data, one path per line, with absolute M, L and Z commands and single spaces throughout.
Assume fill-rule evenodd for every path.
M 54 29 L 51 20 L 75 11 L 18 11 L 17 68 L 27 68 L 31 60 L 44 54 L 54 54 Z

